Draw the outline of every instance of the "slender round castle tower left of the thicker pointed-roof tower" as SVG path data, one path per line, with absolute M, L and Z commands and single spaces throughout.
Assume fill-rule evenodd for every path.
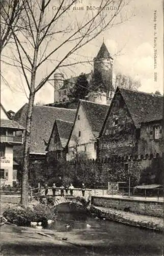
M 61 73 L 54 73 L 54 102 L 60 101 L 60 89 L 64 84 L 64 75 Z

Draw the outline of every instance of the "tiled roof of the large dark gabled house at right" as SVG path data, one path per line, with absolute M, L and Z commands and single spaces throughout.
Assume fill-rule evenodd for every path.
M 137 128 L 142 122 L 162 119 L 162 96 L 122 88 L 118 88 L 118 90 L 121 92 Z

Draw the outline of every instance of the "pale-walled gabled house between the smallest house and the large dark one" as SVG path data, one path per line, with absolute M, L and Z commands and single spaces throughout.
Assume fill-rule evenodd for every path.
M 79 100 L 72 131 L 67 143 L 67 160 L 97 158 L 97 138 L 109 106 Z

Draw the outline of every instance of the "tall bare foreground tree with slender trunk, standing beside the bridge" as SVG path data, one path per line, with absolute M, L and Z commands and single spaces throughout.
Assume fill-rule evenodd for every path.
M 24 31 L 15 33 L 10 24 L 15 48 L 11 50 L 13 65 L 21 69 L 29 89 L 29 104 L 24 136 L 21 204 L 28 206 L 28 170 L 33 105 L 36 93 L 51 79 L 54 72 L 75 65 L 72 54 L 101 32 L 127 19 L 121 12 L 129 0 L 101 0 L 97 9 L 84 6 L 79 18 L 76 0 L 22 0 L 26 19 Z M 111 5 L 114 6 L 111 10 Z M 72 10 L 72 11 L 71 11 Z M 105 11 L 106 10 L 106 11 Z M 53 61 L 50 69 L 48 63 Z

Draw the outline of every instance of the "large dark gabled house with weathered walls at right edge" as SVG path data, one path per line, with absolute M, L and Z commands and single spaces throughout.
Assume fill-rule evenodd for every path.
M 162 96 L 117 88 L 99 134 L 99 158 L 139 176 L 149 172 L 150 182 L 159 182 L 155 179 L 161 175 L 156 172 L 163 172 L 162 108 Z

